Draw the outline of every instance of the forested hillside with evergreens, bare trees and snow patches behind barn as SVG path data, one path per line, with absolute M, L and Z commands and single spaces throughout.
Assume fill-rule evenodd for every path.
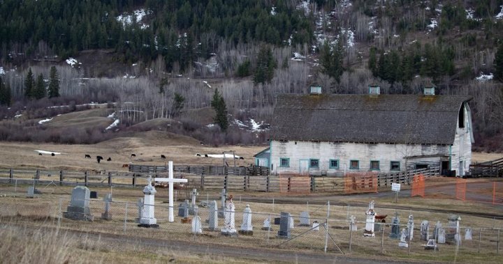
M 503 150 L 503 0 L 3 0 L 0 24 L 1 140 L 45 129 L 16 115 L 93 101 L 115 105 L 120 131 L 168 118 L 202 141 L 261 143 L 267 130 L 245 127 L 268 123 L 277 93 L 435 84 L 474 96 L 476 148 Z M 194 121 L 205 109 L 228 127 Z

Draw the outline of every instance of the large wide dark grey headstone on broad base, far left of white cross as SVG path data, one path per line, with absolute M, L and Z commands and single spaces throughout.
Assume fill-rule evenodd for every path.
M 77 186 L 72 190 L 70 205 L 66 208 L 63 216 L 68 219 L 93 221 L 94 216 L 89 210 L 89 189 L 85 186 Z

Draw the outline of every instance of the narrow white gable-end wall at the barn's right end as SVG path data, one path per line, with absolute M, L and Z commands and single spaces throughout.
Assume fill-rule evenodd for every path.
M 460 128 L 460 120 L 456 125 L 456 133 L 454 143 L 451 148 L 451 169 L 456 171 L 456 175 L 462 176 L 469 171 L 469 165 L 472 164 L 472 121 L 471 113 L 468 107 L 463 107 L 465 111 L 465 127 Z M 462 162 L 462 169 L 460 170 L 460 162 Z

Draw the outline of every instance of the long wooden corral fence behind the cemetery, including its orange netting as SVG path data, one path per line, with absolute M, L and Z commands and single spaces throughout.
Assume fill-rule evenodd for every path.
M 46 169 L 0 169 L 0 183 L 36 185 L 85 185 L 85 186 L 122 186 L 136 187 L 147 184 L 147 177 L 166 178 L 166 166 L 138 166 L 138 171 L 54 171 Z M 143 169 L 142 169 L 143 168 Z M 154 168 L 154 169 L 145 169 Z M 198 169 L 199 168 L 199 169 Z M 233 175 L 233 174 L 205 174 L 221 166 L 175 166 L 175 178 L 186 178 L 186 185 L 179 187 L 198 189 L 228 189 L 258 192 L 341 192 L 360 193 L 377 192 L 379 189 L 389 189 L 392 183 L 410 185 L 414 175 L 425 177 L 438 176 L 439 167 L 396 173 L 365 173 L 363 178 L 354 178 L 354 173 L 347 173 L 349 177 L 305 176 L 300 180 L 291 176 L 274 175 Z M 249 170 L 260 171 L 263 167 L 247 167 Z M 135 169 L 135 170 L 137 170 Z M 229 167 L 228 169 L 231 169 Z M 146 170 L 146 171 L 145 171 Z M 200 171 L 198 171 L 200 170 Z M 241 169 L 242 170 L 242 169 Z M 231 171 L 231 170 L 228 170 Z M 227 171 L 227 172 L 228 172 Z M 237 171 L 235 171 L 238 173 Z M 241 172 L 244 172 L 243 170 Z M 261 172 L 263 173 L 263 172 Z M 371 175 L 371 176 L 370 176 Z

